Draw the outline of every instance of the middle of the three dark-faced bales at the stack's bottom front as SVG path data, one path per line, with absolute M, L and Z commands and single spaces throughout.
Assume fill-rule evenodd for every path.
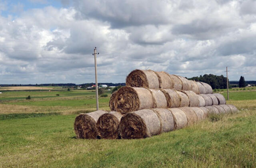
M 122 114 L 117 111 L 104 113 L 97 121 L 97 129 L 100 137 L 104 139 L 117 139 L 119 136 L 119 123 Z

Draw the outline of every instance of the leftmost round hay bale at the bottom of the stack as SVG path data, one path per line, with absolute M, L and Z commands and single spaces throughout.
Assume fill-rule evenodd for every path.
M 76 138 L 96 139 L 99 135 L 96 122 L 98 121 L 98 118 L 106 112 L 107 111 L 98 110 L 86 114 L 82 113 L 76 116 L 74 122 Z

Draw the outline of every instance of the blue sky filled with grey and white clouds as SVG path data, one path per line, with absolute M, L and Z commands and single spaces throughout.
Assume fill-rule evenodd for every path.
M 255 0 L 0 0 L 0 84 L 125 82 L 134 69 L 256 80 Z

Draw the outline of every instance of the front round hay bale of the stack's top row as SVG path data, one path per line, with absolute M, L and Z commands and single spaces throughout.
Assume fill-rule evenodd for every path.
M 126 77 L 126 86 L 145 87 L 150 89 L 160 88 L 157 74 L 152 70 L 133 70 Z

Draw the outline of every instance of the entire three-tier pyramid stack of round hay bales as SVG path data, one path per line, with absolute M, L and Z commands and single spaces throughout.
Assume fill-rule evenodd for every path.
M 111 112 L 78 115 L 76 137 L 146 138 L 202 121 L 208 114 L 237 111 L 221 94 L 212 94 L 209 84 L 153 70 L 130 72 L 126 86 L 112 94 L 109 107 Z

